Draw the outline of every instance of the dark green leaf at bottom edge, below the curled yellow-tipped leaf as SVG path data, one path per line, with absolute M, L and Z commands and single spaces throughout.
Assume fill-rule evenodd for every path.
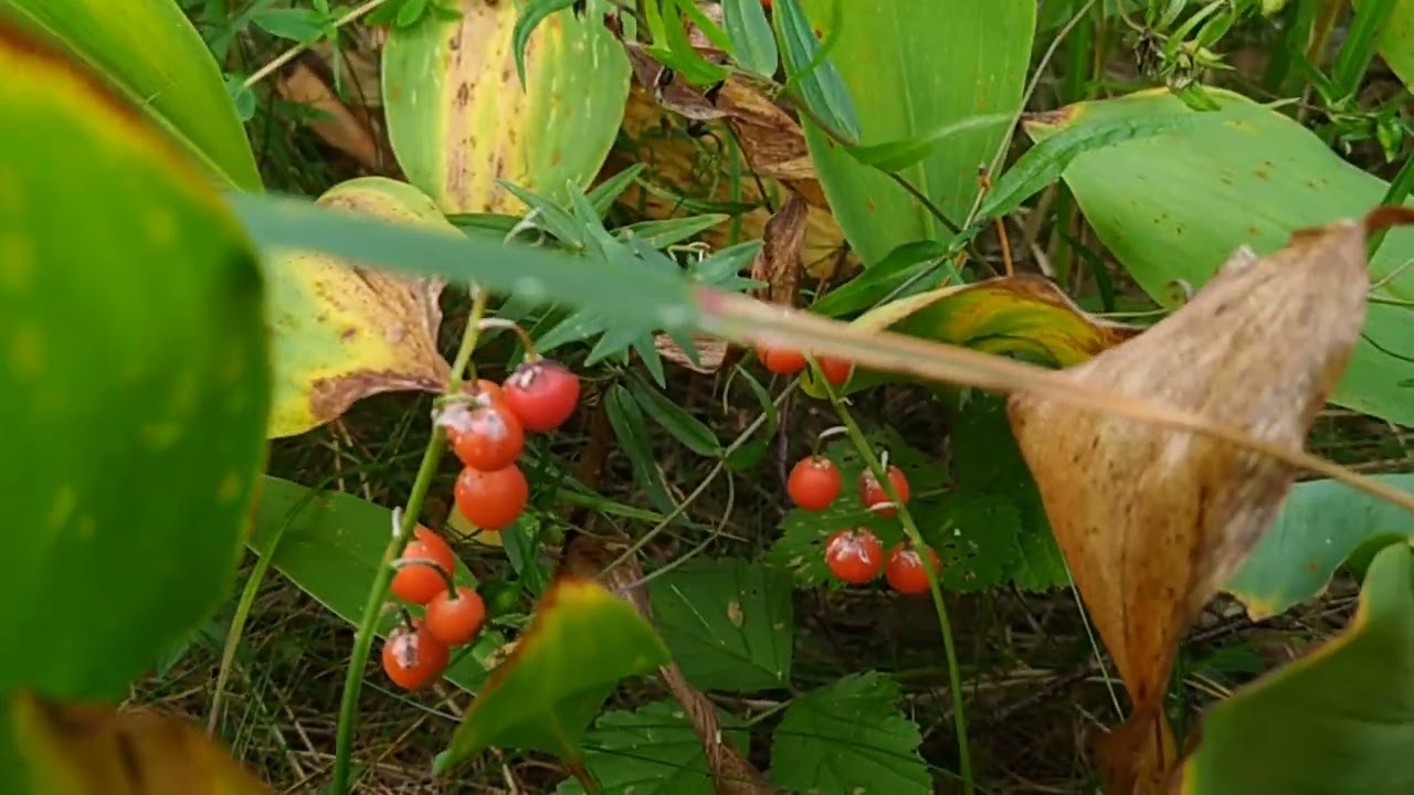
M 717 713 L 723 740 L 747 753 L 749 736 L 734 731 L 741 721 Z M 584 736 L 584 765 L 604 792 L 633 795 L 714 795 L 717 792 L 703 741 L 683 707 L 674 702 L 649 702 L 633 712 L 612 710 L 600 716 Z M 580 795 L 584 787 L 570 778 L 559 795 Z

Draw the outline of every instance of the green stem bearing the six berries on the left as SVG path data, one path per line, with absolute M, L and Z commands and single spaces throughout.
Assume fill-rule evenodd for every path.
M 477 349 L 477 340 L 481 337 L 481 317 L 486 314 L 486 293 L 474 290 L 475 298 L 471 306 L 471 317 L 467 320 L 467 331 L 461 335 L 461 348 L 451 366 L 451 389 L 461 390 L 461 373 L 471 365 L 471 354 Z M 393 562 L 403 555 L 407 542 L 417 528 L 417 518 L 423 511 L 423 502 L 433 487 L 433 475 L 437 474 L 437 464 L 441 461 L 447 447 L 447 433 L 437 423 L 433 423 L 433 437 L 423 451 L 423 463 L 417 467 L 417 480 L 413 481 L 413 491 L 407 497 L 407 506 L 403 511 L 403 523 L 397 535 L 383 550 L 383 562 L 373 577 L 373 586 L 368 591 L 368 601 L 363 604 L 363 617 L 359 620 L 358 634 L 354 635 L 354 654 L 349 655 L 349 668 L 344 675 L 344 699 L 339 702 L 339 727 L 334 741 L 334 781 L 329 785 L 331 795 L 348 795 L 349 771 L 354 762 L 354 721 L 358 716 L 358 697 L 363 689 L 363 671 L 368 668 L 368 658 L 373 649 L 373 637 L 378 634 L 378 617 L 383 611 L 387 600 L 387 587 L 393 581 Z

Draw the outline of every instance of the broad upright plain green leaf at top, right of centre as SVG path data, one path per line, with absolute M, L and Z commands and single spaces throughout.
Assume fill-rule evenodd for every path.
M 925 139 L 976 116 L 1015 115 L 1031 65 L 1031 0 L 803 0 L 826 37 L 864 147 Z M 830 4 L 839 3 L 839 30 Z M 779 13 L 779 3 L 778 13 Z M 803 122 L 810 157 L 844 236 L 865 267 L 911 240 L 952 233 L 887 174 L 858 163 Z M 899 171 L 954 224 L 978 192 L 977 167 L 1010 140 L 1007 124 L 959 132 Z

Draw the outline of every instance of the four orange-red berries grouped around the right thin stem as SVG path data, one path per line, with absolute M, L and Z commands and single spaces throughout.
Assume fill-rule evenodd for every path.
M 823 368 L 822 368 L 823 369 Z M 898 494 L 899 501 L 908 502 L 908 478 L 904 470 L 888 464 L 889 485 Z M 786 480 L 786 492 L 790 501 L 805 511 L 824 511 L 840 495 L 843 478 L 834 461 L 819 453 L 802 458 L 790 470 Z M 880 516 L 894 516 L 898 505 L 889 499 L 888 491 L 880 484 L 874 472 L 864 470 L 855 481 L 860 501 L 864 506 Z M 937 553 L 932 549 L 928 553 L 933 559 L 933 569 L 937 569 Z M 839 580 L 851 586 L 863 586 L 884 571 L 884 579 L 889 587 L 901 594 L 928 593 L 928 571 L 923 569 L 923 559 L 913 545 L 902 542 L 884 556 L 884 545 L 880 543 L 868 528 L 840 530 L 824 543 L 824 563 L 830 573 Z

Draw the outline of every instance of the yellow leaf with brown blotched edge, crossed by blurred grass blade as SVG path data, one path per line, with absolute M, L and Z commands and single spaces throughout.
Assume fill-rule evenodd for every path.
M 461 238 L 417 188 L 383 177 L 341 182 L 318 204 Z M 271 439 L 328 423 L 370 395 L 445 388 L 451 366 L 437 349 L 438 282 L 310 250 L 279 252 L 267 273 L 276 345 Z

